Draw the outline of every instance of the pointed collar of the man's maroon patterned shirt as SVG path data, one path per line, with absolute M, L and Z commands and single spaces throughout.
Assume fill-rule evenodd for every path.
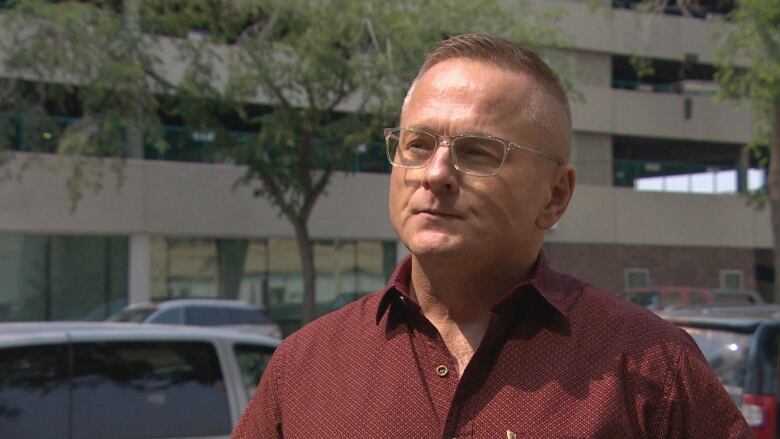
M 377 307 L 376 323 L 379 324 L 382 317 L 387 312 L 393 302 L 400 302 L 400 305 L 410 304 L 417 306 L 412 300 L 410 284 L 412 278 L 412 258 L 407 256 L 398 267 L 396 267 L 387 286 L 381 290 L 382 298 Z M 550 268 L 544 250 L 539 252 L 536 259 L 536 265 L 528 280 L 520 282 L 512 287 L 507 293 L 493 306 L 493 309 L 503 307 L 508 302 L 515 301 L 521 294 L 527 292 L 527 288 L 533 288 L 538 294 L 553 307 L 562 317 L 569 318 L 571 307 L 574 300 L 582 290 L 582 284 L 576 279 L 560 274 Z

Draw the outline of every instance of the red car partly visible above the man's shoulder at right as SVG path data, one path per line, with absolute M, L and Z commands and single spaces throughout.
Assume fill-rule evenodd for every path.
M 764 303 L 764 299 L 755 291 L 685 286 L 636 288 L 626 290 L 620 296 L 653 311 L 689 305 Z

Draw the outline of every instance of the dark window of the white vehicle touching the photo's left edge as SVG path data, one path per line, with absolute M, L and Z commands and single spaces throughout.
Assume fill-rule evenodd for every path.
M 67 437 L 67 348 L 0 349 L 0 437 Z

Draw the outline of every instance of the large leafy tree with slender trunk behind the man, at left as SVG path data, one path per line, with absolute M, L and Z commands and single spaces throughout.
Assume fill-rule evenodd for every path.
M 397 117 L 425 51 L 466 31 L 554 46 L 559 16 L 500 0 L 25 0 L 7 8 L 4 32 L 15 38 L 3 47 L 4 69 L 13 74 L 0 96 L 6 108 L 43 116 L 75 108 L 81 118 L 57 142 L 74 157 L 74 196 L 101 181 L 84 157 L 129 156 L 118 145 L 131 133 L 164 149 L 164 117 L 214 133 L 219 156 L 245 166 L 237 184 L 255 187 L 295 230 L 304 322 L 315 317 L 312 210 L 333 172 Z M 166 53 L 185 67 L 179 77 L 166 72 Z

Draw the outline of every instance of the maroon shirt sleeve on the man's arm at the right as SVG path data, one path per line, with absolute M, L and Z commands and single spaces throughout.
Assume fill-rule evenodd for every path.
M 680 346 L 665 385 L 668 438 L 752 438 L 745 418 L 693 340 Z

